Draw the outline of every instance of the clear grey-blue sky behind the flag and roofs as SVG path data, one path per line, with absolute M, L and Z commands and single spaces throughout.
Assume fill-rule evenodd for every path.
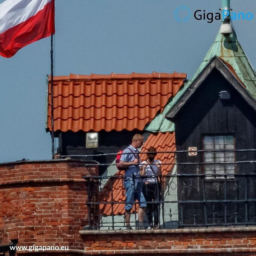
M 255 0 L 230 2 L 233 12 L 255 16 L 233 21 L 255 69 Z M 190 9 L 186 23 L 175 20 L 177 6 Z M 221 0 L 55 0 L 54 75 L 177 71 L 191 78 L 221 25 L 195 20 L 194 12 L 219 8 Z M 0 67 L 0 162 L 50 159 L 45 131 L 50 38 L 12 58 L 0 57 Z

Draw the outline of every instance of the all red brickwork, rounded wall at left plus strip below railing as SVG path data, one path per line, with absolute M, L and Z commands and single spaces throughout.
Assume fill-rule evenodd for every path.
M 69 246 L 66 252 L 18 251 L 31 256 L 256 255 L 254 226 L 82 230 L 97 215 L 88 215 L 88 182 L 95 192 L 91 196 L 97 200 L 98 195 L 98 184 L 85 181 L 82 175 L 98 175 L 98 169 L 72 160 L 0 164 L 0 245 L 18 239 L 18 245 L 24 246 Z

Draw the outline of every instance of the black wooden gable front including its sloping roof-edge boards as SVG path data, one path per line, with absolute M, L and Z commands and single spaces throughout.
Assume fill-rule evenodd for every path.
M 221 99 L 220 91 L 228 91 L 230 99 Z M 206 135 L 232 135 L 235 138 L 235 149 L 256 149 L 255 108 L 256 102 L 242 82 L 230 72 L 221 59 L 215 57 L 168 113 L 168 117 L 171 117 L 175 123 L 177 151 L 187 151 L 189 147 L 203 150 L 202 140 Z M 249 160 L 256 160 L 255 151 L 235 153 L 235 161 Z M 198 152 L 196 156 L 189 156 L 187 152 L 177 153 L 179 174 L 204 174 L 204 164 L 200 164 L 203 162 L 202 152 Z M 243 174 L 255 172 L 256 166 L 252 162 L 237 163 L 235 176 L 227 181 L 214 177 L 206 179 L 203 176 L 180 177 L 178 180 L 180 202 L 220 200 L 207 204 L 179 203 L 180 221 L 185 225 L 204 224 L 206 217 L 208 223 L 213 225 L 225 221 L 235 222 L 235 219 L 241 222 L 246 222 L 246 219 L 249 222 L 253 221 L 255 203 L 233 201 L 256 197 L 255 176 L 242 177 Z M 223 200 L 230 202 L 225 204 Z

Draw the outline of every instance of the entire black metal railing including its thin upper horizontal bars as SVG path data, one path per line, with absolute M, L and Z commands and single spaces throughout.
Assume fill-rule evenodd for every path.
M 191 151 L 158 151 L 168 153 L 171 160 L 162 163 L 166 175 L 158 175 L 154 198 L 146 201 L 145 229 L 152 226 L 149 217 L 157 211 L 157 228 L 211 227 L 256 224 L 256 149 L 198 150 L 197 157 L 187 157 Z M 205 158 L 211 152 L 234 152 L 229 157 L 215 154 L 212 161 Z M 133 154 L 133 153 L 127 153 Z M 146 152 L 140 152 L 142 158 Z M 111 156 L 117 153 L 93 155 L 66 155 L 73 159 Z M 218 156 L 218 157 L 216 157 Z M 100 159 L 100 158 L 99 158 Z M 105 158 L 106 159 L 106 158 Z M 175 160 L 177 159 L 177 161 Z M 181 161 L 180 159 L 183 159 Z M 204 159 L 205 162 L 204 162 Z M 87 166 L 95 163 L 89 164 Z M 86 229 L 126 229 L 125 204 L 134 205 L 131 210 L 131 227 L 139 228 L 140 201 L 126 201 L 124 172 L 118 172 L 116 163 L 99 162 L 102 170 L 111 169 L 109 176 L 83 176 L 87 181 L 88 225 Z M 146 199 L 148 187 L 145 178 L 133 176 L 135 185 L 140 181 Z M 154 176 L 155 177 L 155 176 Z M 144 184 L 144 185 L 143 185 Z M 151 207 L 154 206 L 154 207 Z M 149 210 L 150 209 L 150 210 Z M 154 212 L 153 212 L 153 210 Z M 154 218 L 153 218 L 154 219 Z M 150 223 L 149 223 L 150 222 Z

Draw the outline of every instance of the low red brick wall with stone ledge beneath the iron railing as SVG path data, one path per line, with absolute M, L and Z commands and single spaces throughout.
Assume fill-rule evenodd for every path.
M 90 255 L 256 255 L 256 227 L 80 233 Z

